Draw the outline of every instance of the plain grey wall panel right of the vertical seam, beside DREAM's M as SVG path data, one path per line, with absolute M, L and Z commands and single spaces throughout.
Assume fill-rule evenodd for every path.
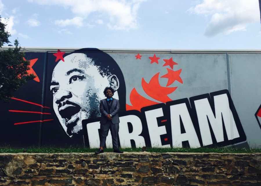
M 247 143 L 261 147 L 261 130 L 255 112 L 261 104 L 261 54 L 228 54 L 231 97 L 238 112 Z

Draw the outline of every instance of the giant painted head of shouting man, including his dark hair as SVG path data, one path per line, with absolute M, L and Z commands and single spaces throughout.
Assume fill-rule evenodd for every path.
M 99 102 L 105 98 L 106 86 L 116 91 L 116 99 L 121 100 L 119 92 L 123 92 L 125 102 L 122 72 L 108 54 L 98 49 L 81 49 L 58 62 L 50 91 L 53 109 L 68 136 L 81 134 L 83 119 L 100 117 Z

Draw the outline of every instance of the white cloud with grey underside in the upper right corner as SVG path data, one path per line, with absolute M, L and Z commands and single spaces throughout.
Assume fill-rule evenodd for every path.
M 257 0 L 203 0 L 188 11 L 211 17 L 206 26 L 206 36 L 244 31 L 249 23 L 260 22 Z

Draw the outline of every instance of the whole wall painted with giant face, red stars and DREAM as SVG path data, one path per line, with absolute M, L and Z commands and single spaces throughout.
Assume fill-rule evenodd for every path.
M 0 102 L 0 146 L 98 147 L 99 101 L 111 86 L 122 147 L 261 147 L 261 53 L 80 49 L 26 59 L 37 77 Z

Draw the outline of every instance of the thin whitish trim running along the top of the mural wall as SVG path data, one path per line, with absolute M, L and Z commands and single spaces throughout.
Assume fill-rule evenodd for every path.
M 2 47 L 0 50 L 6 50 L 10 48 Z M 14 48 L 14 47 L 11 47 Z M 59 47 L 21 47 L 24 51 L 32 52 L 56 52 L 57 49 L 65 52 L 72 52 L 81 48 L 59 48 Z M 225 49 L 104 49 L 99 48 L 100 50 L 108 53 L 261 53 L 259 49 L 250 49 L 250 50 L 225 50 Z

